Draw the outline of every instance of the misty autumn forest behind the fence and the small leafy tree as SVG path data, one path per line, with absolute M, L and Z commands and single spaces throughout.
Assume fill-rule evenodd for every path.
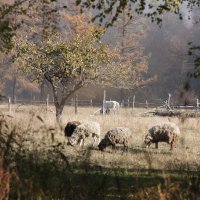
M 12 37 L 12 34 L 29 35 L 32 40 L 39 37 L 48 38 L 49 29 L 58 29 L 61 33 L 69 34 L 74 31 L 73 23 L 78 23 L 76 19 L 69 18 L 69 16 L 80 14 L 79 7 L 75 6 L 73 1 L 25 1 L 25 5 L 14 8 L 9 15 L 3 16 L 5 3 L 12 5 L 13 2 L 1 2 L 1 30 L 6 29 L 9 34 L 1 34 L 0 42 L 5 38 L 9 40 L 8 36 Z M 188 19 L 188 10 L 183 5 L 181 20 L 179 15 L 167 12 L 162 15 L 161 26 L 155 22 L 152 23 L 151 18 L 134 14 L 130 28 L 126 31 L 126 33 L 129 32 L 128 36 L 125 37 L 119 34 L 122 30 L 120 25 L 124 20 L 122 12 L 121 22 L 120 18 L 114 21 L 113 26 L 105 30 L 105 35 L 101 40 L 118 47 L 121 52 L 123 52 L 123 45 L 126 43 L 130 45 L 132 42 L 129 47 L 131 51 L 127 53 L 126 59 L 131 56 L 140 57 L 142 61 L 137 60 L 136 64 L 139 63 L 138 68 L 142 69 L 141 80 L 144 79 L 147 82 L 140 81 L 141 84 L 136 84 L 134 87 L 119 85 L 111 87 L 93 83 L 78 91 L 79 99 L 102 99 L 103 90 L 106 89 L 107 97 L 118 101 L 132 98 L 134 95 L 138 100 L 166 99 L 168 93 L 171 93 L 175 102 L 195 102 L 200 95 L 199 80 L 188 76 L 195 66 L 194 58 L 188 54 L 188 51 L 190 43 L 199 44 L 199 24 L 196 23 L 198 14 L 198 7 L 192 9 Z M 13 19 L 12 24 L 7 26 L 6 18 Z M 37 30 L 37 34 L 32 29 Z M 4 34 L 5 38 L 3 38 Z M 30 77 L 19 72 L 13 64 L 10 58 L 12 45 L 10 46 L 9 41 L 2 44 L 7 44 L 7 46 L 1 45 L 1 94 L 11 96 L 12 99 L 35 97 L 38 100 L 45 100 L 47 94 L 50 94 L 52 98 L 51 86 L 45 80 L 40 85 L 32 84 Z

